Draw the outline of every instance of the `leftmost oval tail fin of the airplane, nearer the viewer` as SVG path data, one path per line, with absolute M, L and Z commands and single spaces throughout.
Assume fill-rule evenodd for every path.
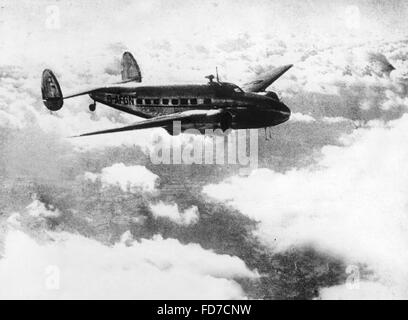
M 61 87 L 54 73 L 45 69 L 41 80 L 41 93 L 44 105 L 51 111 L 57 111 L 64 104 Z

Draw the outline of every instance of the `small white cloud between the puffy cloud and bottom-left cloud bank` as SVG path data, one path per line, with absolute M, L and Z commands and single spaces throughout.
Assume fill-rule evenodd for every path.
M 171 221 L 181 225 L 195 224 L 199 219 L 199 212 L 196 206 L 192 206 L 191 208 L 180 212 L 176 203 L 165 204 L 163 202 L 159 202 L 157 204 L 152 204 L 150 208 L 154 217 L 168 218 Z

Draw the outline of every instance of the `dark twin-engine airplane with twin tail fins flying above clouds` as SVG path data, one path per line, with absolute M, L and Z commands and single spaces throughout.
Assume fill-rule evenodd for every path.
M 89 94 L 93 103 L 90 111 L 95 111 L 96 102 L 127 112 L 145 120 L 132 125 L 81 134 L 89 136 L 103 133 L 164 128 L 169 134 L 173 122 L 179 121 L 180 131 L 198 129 L 250 129 L 267 128 L 287 121 L 290 110 L 277 94 L 265 91 L 292 65 L 273 70 L 265 77 L 247 83 L 243 89 L 235 84 L 220 82 L 210 75 L 207 84 L 149 85 L 142 84 L 140 68 L 131 53 L 122 57 L 122 81 L 99 86 L 82 92 L 63 96 L 60 85 L 51 70 L 42 74 L 41 91 L 45 106 L 51 111 L 62 108 L 64 99 Z

